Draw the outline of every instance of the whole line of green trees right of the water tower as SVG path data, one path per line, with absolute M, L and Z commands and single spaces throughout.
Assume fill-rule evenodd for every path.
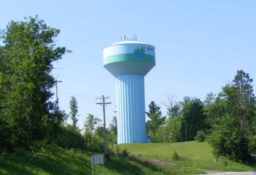
M 152 142 L 204 141 L 216 156 L 248 161 L 256 153 L 256 101 L 253 79 L 240 70 L 218 95 L 207 94 L 205 101 L 184 97 L 175 102 L 168 96 L 167 116 L 152 101 L 147 135 Z M 187 130 L 187 136 L 186 136 Z M 187 138 L 186 138 L 187 137 Z

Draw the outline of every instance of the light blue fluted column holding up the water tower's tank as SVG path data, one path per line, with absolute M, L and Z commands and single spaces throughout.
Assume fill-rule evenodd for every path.
M 118 144 L 150 142 L 146 138 L 144 77 L 121 75 L 116 79 Z

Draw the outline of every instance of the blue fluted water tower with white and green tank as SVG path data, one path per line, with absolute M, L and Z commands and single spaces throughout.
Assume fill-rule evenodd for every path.
M 103 65 L 116 79 L 118 144 L 149 143 L 144 76 L 155 66 L 155 47 L 122 36 L 103 49 Z

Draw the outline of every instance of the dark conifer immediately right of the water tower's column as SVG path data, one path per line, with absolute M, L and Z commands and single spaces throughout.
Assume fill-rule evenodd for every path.
M 152 142 L 154 142 L 155 132 L 164 124 L 166 116 L 162 116 L 161 107 L 157 106 L 154 101 L 150 102 L 148 107 L 149 112 L 146 112 L 146 114 L 150 120 L 146 123 L 147 135 L 149 135 Z

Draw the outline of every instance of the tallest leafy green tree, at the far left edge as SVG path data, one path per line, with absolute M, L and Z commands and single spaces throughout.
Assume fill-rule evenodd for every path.
M 53 96 L 53 62 L 68 52 L 55 46 L 59 33 L 37 16 L 25 22 L 11 21 L 1 33 L 0 148 L 26 147 L 45 136 Z

